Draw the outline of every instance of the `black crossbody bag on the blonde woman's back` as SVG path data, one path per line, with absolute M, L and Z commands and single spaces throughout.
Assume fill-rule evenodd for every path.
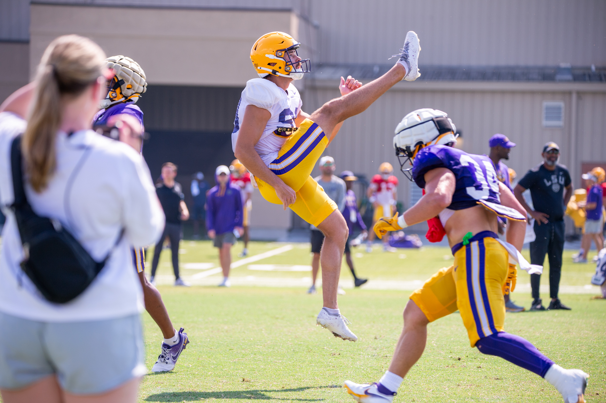
M 121 241 L 124 230 L 104 260 L 95 261 L 58 220 L 40 217 L 27 201 L 23 187 L 21 136 L 13 140 L 10 163 L 15 192 L 11 208 L 15 213 L 25 254 L 21 269 L 48 301 L 68 303 L 95 280 Z

